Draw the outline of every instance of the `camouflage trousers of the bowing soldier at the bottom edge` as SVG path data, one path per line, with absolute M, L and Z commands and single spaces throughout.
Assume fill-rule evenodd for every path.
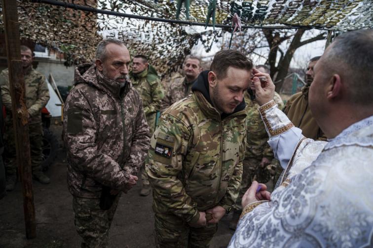
M 217 224 L 193 228 L 180 217 L 170 214 L 155 213 L 154 219 L 157 248 L 209 248 L 218 231 Z

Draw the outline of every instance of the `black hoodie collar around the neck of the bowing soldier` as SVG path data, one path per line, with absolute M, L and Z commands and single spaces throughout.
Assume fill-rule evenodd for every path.
M 208 80 L 209 72 L 210 72 L 209 70 L 202 71 L 198 75 L 198 78 L 196 79 L 196 81 L 193 83 L 191 90 L 192 92 L 198 91 L 202 93 L 205 99 L 211 104 L 211 106 L 214 106 L 211 101 L 210 92 L 209 92 L 209 80 Z M 242 111 L 245 109 L 245 107 L 246 107 L 245 99 L 242 99 L 242 102 L 237 105 L 237 107 L 234 109 L 233 113 L 231 114 L 234 114 L 238 111 Z M 221 119 L 223 120 L 224 118 L 230 116 L 231 114 L 222 113 Z

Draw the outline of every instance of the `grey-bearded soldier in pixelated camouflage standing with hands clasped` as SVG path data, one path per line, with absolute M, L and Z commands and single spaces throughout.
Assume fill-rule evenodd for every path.
M 121 41 L 102 41 L 95 64 L 75 68 L 65 102 L 68 185 L 82 248 L 108 247 L 121 191 L 136 184 L 148 152 L 149 127 L 141 97 L 127 81 L 129 63 Z

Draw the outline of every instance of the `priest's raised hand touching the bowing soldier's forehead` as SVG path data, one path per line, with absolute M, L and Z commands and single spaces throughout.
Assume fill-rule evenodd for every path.
M 255 99 L 257 100 L 259 105 L 263 105 L 273 100 L 275 86 L 269 74 L 262 73 L 255 68 L 253 68 L 253 74 L 253 83 L 255 85 Z M 259 77 L 261 77 L 262 80 Z

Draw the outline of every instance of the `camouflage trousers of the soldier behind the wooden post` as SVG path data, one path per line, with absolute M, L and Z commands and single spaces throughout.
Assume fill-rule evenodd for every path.
M 14 139 L 14 129 L 12 123 L 6 123 L 5 125 L 5 153 L 4 153 L 4 164 L 5 172 L 7 175 L 14 175 L 17 172 L 16 163 L 16 145 Z M 31 166 L 33 172 L 41 170 L 42 162 L 42 137 L 43 128 L 41 123 L 29 125 L 29 137 L 30 137 L 30 153 L 31 153 Z

